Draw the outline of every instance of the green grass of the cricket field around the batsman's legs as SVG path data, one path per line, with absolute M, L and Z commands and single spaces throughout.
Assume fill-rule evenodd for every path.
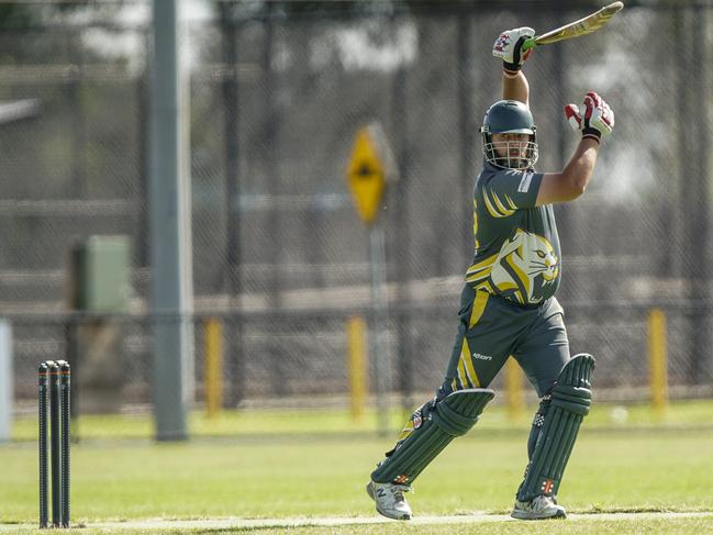
M 664 419 L 645 406 L 600 406 L 586 422 L 560 501 L 570 512 L 711 511 L 713 405 L 672 405 Z M 493 408 L 452 444 L 416 483 L 409 501 L 419 514 L 506 513 L 525 466 L 527 420 L 511 423 Z M 396 422 L 394 417 L 394 422 Z M 37 509 L 36 422 L 16 423 L 0 446 L 0 523 L 34 523 Z M 368 473 L 392 436 L 378 437 L 369 419 L 354 424 L 325 413 L 225 413 L 215 422 L 192 415 L 196 438 L 156 444 L 116 437 L 151 435 L 145 417 L 82 417 L 73 447 L 73 519 L 245 519 L 372 516 L 364 492 Z M 94 438 L 104 439 L 94 439 Z M 706 533 L 706 519 L 580 521 L 580 533 Z M 660 524 L 664 523 L 664 524 Z M 502 523 L 486 533 L 565 533 L 559 523 Z M 581 525 L 579 525 L 581 524 Z M 562 523 L 572 533 L 575 521 Z M 290 528 L 289 533 L 383 533 L 383 525 Z M 389 524 L 389 533 L 474 533 L 468 526 Z M 499 531 L 500 530 L 500 531 Z M 504 531 L 502 531 L 504 530 Z M 527 530 L 525 532 L 524 530 Z M 539 531 L 542 530 L 542 531 Z M 259 530 L 264 533 L 286 533 Z M 82 533 L 94 532 L 85 530 Z M 168 533 L 168 532 L 164 532 Z M 199 533 L 196 531 L 194 533 Z M 205 533 L 205 531 L 201 532 Z

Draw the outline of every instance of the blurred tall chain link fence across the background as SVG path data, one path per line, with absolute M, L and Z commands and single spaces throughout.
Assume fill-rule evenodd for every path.
M 213 316 L 229 406 L 346 403 L 345 322 L 369 314 L 369 265 L 345 170 L 372 120 L 400 172 L 380 211 L 392 388 L 433 391 L 472 256 L 477 132 L 501 93 L 492 42 L 598 8 L 357 4 L 218 2 L 189 23 L 198 401 L 200 327 Z M 131 310 L 101 321 L 118 333 L 123 402 L 149 404 L 149 9 L 22 5 L 31 16 L 5 21 L 0 37 L 0 311 L 13 325 L 15 395 L 34 399 L 37 363 L 70 354 L 74 328 L 97 321 L 68 310 L 71 247 L 124 235 Z M 713 392 L 712 18 L 705 2 L 630 4 L 526 67 L 541 170 L 561 169 L 577 143 L 565 103 L 595 89 L 616 112 L 587 193 L 556 208 L 571 348 L 597 356 L 597 386 L 613 397 L 646 397 L 654 308 L 668 316 L 671 392 Z

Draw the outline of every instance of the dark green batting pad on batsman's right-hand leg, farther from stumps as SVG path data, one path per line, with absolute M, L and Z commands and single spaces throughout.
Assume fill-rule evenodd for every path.
M 557 495 L 579 426 L 589 414 L 592 402 L 590 376 L 593 369 L 594 357 L 581 353 L 572 357 L 559 372 L 549 411 L 525 471 L 525 480 L 517 491 L 521 502 L 542 494 Z

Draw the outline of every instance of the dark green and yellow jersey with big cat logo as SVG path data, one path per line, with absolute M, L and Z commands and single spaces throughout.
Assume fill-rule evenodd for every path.
M 486 164 L 476 180 L 476 254 L 466 272 L 474 289 L 519 304 L 536 304 L 557 291 L 559 237 L 552 204 L 536 207 L 542 172 Z

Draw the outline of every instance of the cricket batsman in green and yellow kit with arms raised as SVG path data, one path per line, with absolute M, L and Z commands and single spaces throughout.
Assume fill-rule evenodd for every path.
M 593 91 L 581 109 L 565 107 L 581 141 L 565 169 L 537 172 L 536 127 L 522 71 L 532 49 L 521 53 L 533 35 L 531 27 L 508 30 L 493 45 L 493 56 L 503 62 L 503 100 L 488 109 L 480 129 L 484 161 L 474 193 L 475 257 L 466 272 L 450 361 L 435 398 L 413 413 L 367 484 L 377 511 L 390 519 L 411 517 L 404 492 L 454 437 L 476 424 L 493 398 L 487 387 L 510 356 L 541 399 L 512 516 L 566 516 L 557 491 L 589 413 L 594 358 L 569 354 L 555 298 L 561 266 L 553 204 L 584 192 L 614 113 Z

